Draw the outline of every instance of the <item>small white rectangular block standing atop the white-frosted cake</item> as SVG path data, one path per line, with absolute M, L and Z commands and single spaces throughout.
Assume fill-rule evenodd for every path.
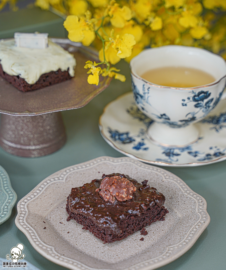
M 31 49 L 45 49 L 48 47 L 47 33 L 15 33 L 15 45 L 17 47 Z

